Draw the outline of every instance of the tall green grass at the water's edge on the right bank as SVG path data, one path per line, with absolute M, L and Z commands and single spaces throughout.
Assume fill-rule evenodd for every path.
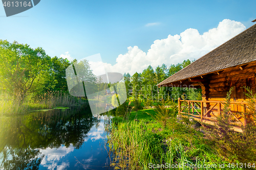
M 165 139 L 152 131 L 154 125 L 143 120 L 115 124 L 112 123 L 108 135 L 108 146 L 113 154 L 111 165 L 115 169 L 150 169 L 153 164 L 160 167 L 157 169 L 173 169 L 175 165 L 181 165 L 175 169 L 191 169 L 185 164 L 206 164 L 202 158 L 189 161 L 187 147 L 179 138 Z

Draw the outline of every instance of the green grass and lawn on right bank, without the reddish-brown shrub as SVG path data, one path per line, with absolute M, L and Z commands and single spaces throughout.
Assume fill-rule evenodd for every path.
M 154 109 L 146 109 L 131 112 L 127 121 L 123 121 L 122 117 L 112 119 L 108 144 L 114 154 L 112 166 L 115 169 L 148 169 L 153 164 L 161 169 L 161 165 L 166 164 L 197 163 L 203 167 L 203 164 L 219 166 L 227 163 L 218 156 L 212 148 L 213 144 L 204 138 L 200 129 L 195 130 L 174 119 L 169 119 L 166 128 L 163 128 L 147 113 L 156 114 Z

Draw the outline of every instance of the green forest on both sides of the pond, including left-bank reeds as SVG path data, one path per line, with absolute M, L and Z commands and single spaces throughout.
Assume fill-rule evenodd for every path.
M 8 110 L 8 113 L 13 114 L 36 109 L 68 107 L 75 105 L 78 100 L 83 103 L 87 97 L 74 98 L 68 91 L 66 69 L 76 62 L 76 59 L 69 61 L 56 56 L 50 57 L 41 47 L 32 48 L 28 44 L 17 41 L 11 43 L 0 40 L 0 102 L 6 106 L 1 109 L 1 112 L 7 113 Z M 185 99 L 201 100 L 200 89 L 156 86 L 191 62 L 193 61 L 184 60 L 169 67 L 162 64 L 156 69 L 149 65 L 141 73 L 135 72 L 134 75 L 125 73 L 123 80 L 127 100 L 139 99 L 143 102 L 143 100 L 159 101 L 170 98 L 177 101 L 180 96 Z M 91 75 L 90 81 L 96 85 L 98 80 L 92 74 L 90 64 L 87 61 L 78 64 L 83 67 L 84 72 Z M 110 86 L 111 82 L 103 83 L 100 89 Z M 12 109 L 9 109 L 10 107 Z

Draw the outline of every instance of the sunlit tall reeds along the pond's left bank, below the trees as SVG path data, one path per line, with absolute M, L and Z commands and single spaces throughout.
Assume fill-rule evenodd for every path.
M 15 100 L 8 94 L 0 94 L 0 115 L 22 114 L 38 109 L 53 109 L 55 107 L 70 107 L 84 104 L 84 100 L 68 93 L 47 92 L 41 96 L 28 96 L 24 101 Z

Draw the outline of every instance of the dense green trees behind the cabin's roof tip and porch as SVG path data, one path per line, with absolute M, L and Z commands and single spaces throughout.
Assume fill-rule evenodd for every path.
M 167 98 L 176 101 L 180 97 L 185 100 L 202 100 L 201 89 L 179 87 L 159 88 L 156 86 L 194 61 L 187 59 L 182 63 L 172 64 L 169 67 L 162 64 L 161 66 L 158 65 L 155 70 L 149 65 L 141 73 L 135 72 L 132 76 L 129 73 L 125 73 L 123 78 L 127 89 L 127 96 L 132 96 L 133 99 L 139 98 L 142 101 L 159 101 Z

